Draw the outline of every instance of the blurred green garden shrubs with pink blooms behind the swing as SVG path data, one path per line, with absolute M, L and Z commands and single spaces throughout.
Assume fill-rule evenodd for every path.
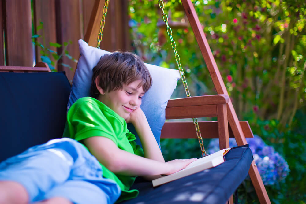
M 192 2 L 238 117 L 248 120 L 253 133 L 272 145 L 289 164 L 286 180 L 267 187 L 271 201 L 304 203 L 305 1 Z M 214 94 L 210 74 L 181 2 L 168 0 L 164 6 L 169 25 L 173 25 L 173 39 L 186 80 L 192 84 L 191 95 Z M 157 2 L 131 0 L 129 11 L 135 52 L 148 63 L 176 69 Z M 179 82 L 177 89 L 182 90 L 181 87 Z M 177 96 L 184 94 L 182 91 Z M 164 139 L 161 145 L 167 160 L 198 157 L 200 152 L 196 139 Z M 240 188 L 240 195 L 244 197 L 241 203 L 258 202 L 247 180 Z

